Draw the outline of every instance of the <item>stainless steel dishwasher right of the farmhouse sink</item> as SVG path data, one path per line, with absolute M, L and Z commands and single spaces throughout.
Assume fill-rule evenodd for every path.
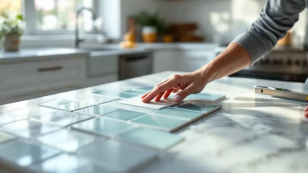
M 119 56 L 119 80 L 153 73 L 153 53 L 131 53 Z

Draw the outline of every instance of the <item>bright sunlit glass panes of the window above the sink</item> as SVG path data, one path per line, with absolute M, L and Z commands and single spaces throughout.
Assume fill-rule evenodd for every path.
M 66 34 L 75 30 L 75 10 L 78 6 L 96 7 L 99 0 L 1 0 L 0 11 L 25 16 L 25 34 Z M 94 9 L 95 12 L 97 10 Z M 93 32 L 92 14 L 84 10 L 78 18 L 79 28 Z

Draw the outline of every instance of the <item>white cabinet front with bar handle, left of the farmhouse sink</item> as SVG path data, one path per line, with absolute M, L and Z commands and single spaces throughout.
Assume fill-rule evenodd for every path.
M 0 65 L 0 105 L 78 89 L 86 75 L 86 57 Z

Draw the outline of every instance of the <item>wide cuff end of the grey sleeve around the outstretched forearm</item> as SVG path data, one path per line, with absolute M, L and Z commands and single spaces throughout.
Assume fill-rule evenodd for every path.
M 246 49 L 251 58 L 250 66 L 264 57 L 273 48 L 273 45 L 265 37 L 261 38 L 261 36 L 257 36 L 257 34 L 249 31 L 241 33 L 232 42 L 238 43 Z

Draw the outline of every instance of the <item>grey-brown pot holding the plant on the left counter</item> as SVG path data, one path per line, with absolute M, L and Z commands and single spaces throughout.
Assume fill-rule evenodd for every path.
M 19 51 L 20 37 L 18 35 L 5 35 L 3 37 L 3 49 L 6 52 Z

